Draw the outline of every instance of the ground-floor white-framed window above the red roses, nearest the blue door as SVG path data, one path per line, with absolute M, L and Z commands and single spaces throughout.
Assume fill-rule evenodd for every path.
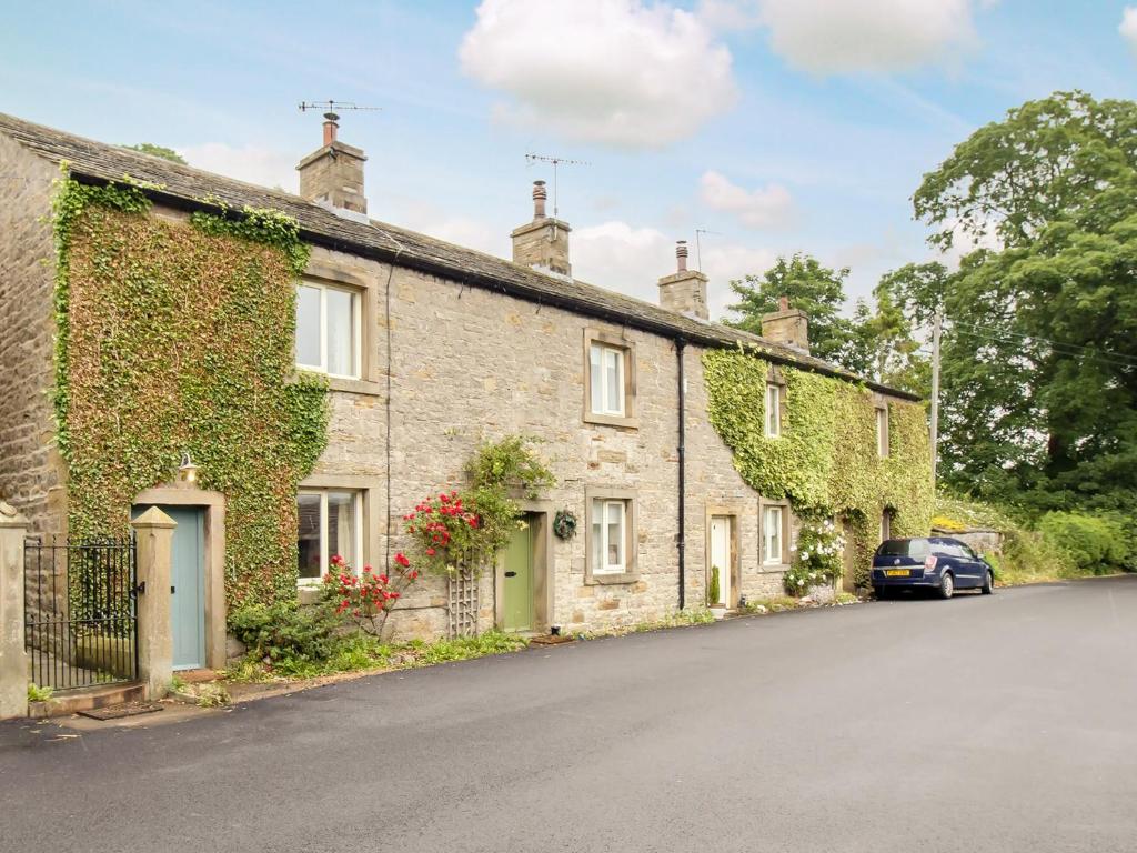
M 300 585 L 318 583 L 339 555 L 359 571 L 363 496 L 348 489 L 304 489 L 296 496 Z

